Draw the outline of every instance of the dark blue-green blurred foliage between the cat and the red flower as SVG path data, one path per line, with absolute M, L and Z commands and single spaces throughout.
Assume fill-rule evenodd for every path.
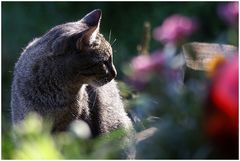
M 183 87 L 164 78 L 151 78 L 144 88 L 145 94 L 139 95 L 135 100 L 138 103 L 133 104 L 134 110 L 142 110 L 138 112 L 144 114 L 138 115 L 141 126 L 157 128 L 150 139 L 138 144 L 137 158 L 208 158 L 211 147 L 202 128 L 204 94 L 207 93 L 203 78 Z

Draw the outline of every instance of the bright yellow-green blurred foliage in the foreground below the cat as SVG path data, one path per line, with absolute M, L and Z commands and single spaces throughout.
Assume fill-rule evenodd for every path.
M 50 127 L 49 121 L 30 113 L 4 134 L 3 159 L 117 159 L 121 155 L 121 129 L 89 139 L 79 133 L 85 131 L 80 122 L 57 134 L 51 134 Z

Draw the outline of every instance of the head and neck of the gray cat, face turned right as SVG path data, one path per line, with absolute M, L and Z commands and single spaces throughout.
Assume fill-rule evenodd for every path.
M 101 10 L 94 10 L 77 22 L 54 27 L 42 37 L 41 41 L 51 46 L 46 61 L 51 58 L 52 68 L 60 70 L 72 84 L 101 86 L 116 77 L 111 45 L 99 32 L 101 16 Z

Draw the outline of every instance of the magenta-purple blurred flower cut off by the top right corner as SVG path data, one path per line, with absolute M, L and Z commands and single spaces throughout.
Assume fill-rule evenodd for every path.
M 218 7 L 218 15 L 227 24 L 235 26 L 238 24 L 238 2 L 221 4 Z

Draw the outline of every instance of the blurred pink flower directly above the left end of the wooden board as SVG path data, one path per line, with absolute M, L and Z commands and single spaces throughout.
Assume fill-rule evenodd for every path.
M 197 22 L 181 15 L 168 17 L 154 30 L 153 37 L 163 43 L 176 43 L 190 36 L 197 29 Z

